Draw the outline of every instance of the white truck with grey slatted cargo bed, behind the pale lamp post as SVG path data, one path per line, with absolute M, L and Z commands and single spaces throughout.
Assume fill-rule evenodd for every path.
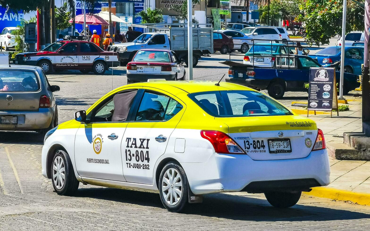
M 111 46 L 110 51 L 118 53 L 121 65 L 132 60 L 138 50 L 161 49 L 172 50 L 180 60 L 188 65 L 187 28 L 154 27 L 154 32 L 141 34 L 132 43 L 120 43 Z M 171 39 L 170 39 L 171 38 Z M 193 28 L 193 67 L 198 64 L 202 55 L 213 54 L 213 28 Z

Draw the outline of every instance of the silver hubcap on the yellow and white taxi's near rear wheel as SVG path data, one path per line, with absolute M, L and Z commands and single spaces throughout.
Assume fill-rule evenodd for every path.
M 176 169 L 168 169 L 162 179 L 162 194 L 169 205 L 179 202 L 182 195 L 181 175 Z

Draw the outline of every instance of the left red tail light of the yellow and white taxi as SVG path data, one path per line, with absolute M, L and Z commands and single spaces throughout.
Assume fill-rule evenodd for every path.
M 201 136 L 211 142 L 216 153 L 245 154 L 244 150 L 223 132 L 201 130 Z

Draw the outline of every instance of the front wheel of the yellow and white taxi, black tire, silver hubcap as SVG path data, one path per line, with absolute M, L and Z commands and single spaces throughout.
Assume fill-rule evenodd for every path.
M 57 171 L 58 167 L 56 165 L 54 166 L 56 159 L 57 161 L 63 161 L 63 163 L 59 163 L 61 163 L 61 166 L 64 166 L 64 181 L 60 180 L 61 178 L 58 178 L 58 176 L 63 176 L 63 174 L 61 174 L 63 173 L 63 170 Z M 80 184 L 74 174 L 71 159 L 64 150 L 56 150 L 53 162 L 51 162 L 51 183 L 53 184 L 54 190 L 59 195 L 73 195 L 77 191 L 78 185 Z

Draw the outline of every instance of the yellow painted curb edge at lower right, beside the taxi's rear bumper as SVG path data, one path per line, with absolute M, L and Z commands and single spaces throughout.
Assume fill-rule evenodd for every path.
M 354 193 L 352 191 L 340 190 L 329 187 L 314 187 L 310 192 L 303 192 L 308 196 L 324 197 L 332 200 L 352 201 L 361 205 L 370 205 L 370 194 Z

